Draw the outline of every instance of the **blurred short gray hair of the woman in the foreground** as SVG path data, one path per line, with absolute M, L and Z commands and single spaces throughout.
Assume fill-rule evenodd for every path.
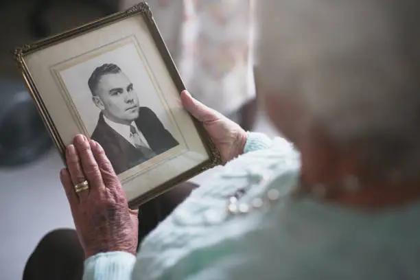
M 303 100 L 372 171 L 417 178 L 420 1 L 261 0 L 257 10 L 261 84 Z

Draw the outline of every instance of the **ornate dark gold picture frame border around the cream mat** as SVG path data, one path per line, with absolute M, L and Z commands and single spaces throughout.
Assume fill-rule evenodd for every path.
M 14 50 L 14 59 L 16 60 L 16 62 L 19 65 L 19 68 L 22 71 L 25 84 L 27 85 L 27 88 L 29 89 L 32 95 L 32 98 L 34 99 L 36 107 L 38 108 L 38 112 L 40 113 L 44 121 L 44 124 L 56 145 L 56 148 L 58 148 L 60 152 L 60 156 L 62 157 L 62 161 L 64 163 L 65 163 L 65 143 L 64 141 L 62 141 L 62 138 L 60 137 L 58 130 L 54 126 L 54 122 L 52 121 L 51 116 L 49 115 L 47 108 L 45 107 L 45 104 L 42 98 L 40 97 L 40 94 L 38 93 L 38 89 L 36 89 L 34 80 L 32 79 L 32 75 L 25 63 L 25 55 L 31 54 L 35 51 L 38 51 L 45 47 L 49 47 L 56 43 L 61 43 L 62 41 L 80 36 L 81 34 L 91 32 L 99 27 L 103 27 L 104 25 L 115 23 L 117 21 L 127 19 L 130 16 L 139 15 L 139 14 L 143 16 L 143 19 L 145 19 L 145 23 L 148 26 L 148 29 L 150 31 L 150 34 L 152 35 L 154 43 L 156 43 L 156 47 L 159 50 L 159 53 L 161 54 L 163 61 L 165 62 L 165 66 L 167 67 L 167 70 L 169 71 L 171 75 L 171 78 L 176 86 L 176 89 L 178 89 L 178 92 L 180 93 L 181 91 L 185 89 L 183 80 L 180 78 L 180 75 L 178 73 L 178 70 L 176 69 L 174 61 L 172 60 L 172 57 L 170 56 L 170 53 L 167 50 L 167 47 L 158 30 L 158 27 L 156 27 L 156 23 L 154 22 L 152 11 L 150 10 L 148 3 L 146 2 L 138 3 L 137 5 L 134 5 L 132 6 L 132 8 L 129 8 L 128 10 L 125 10 L 123 12 L 117 12 L 116 14 L 106 16 L 97 21 L 92 21 L 91 23 L 86 23 L 85 25 L 76 27 L 73 30 L 69 30 L 62 34 L 58 34 L 56 36 L 51 36 L 49 38 L 39 40 L 32 44 L 23 45 L 23 47 L 18 47 Z M 209 160 L 206 161 L 205 163 L 202 163 L 188 170 L 187 172 L 184 172 L 183 174 L 176 176 L 175 178 L 172 178 L 171 180 L 167 181 L 163 185 L 159 185 L 158 187 L 155 187 L 151 191 L 148 191 L 147 193 L 129 201 L 128 205 L 130 206 L 130 208 L 137 208 L 139 205 L 142 205 L 148 200 L 151 200 L 152 198 L 155 198 L 156 196 L 163 194 L 165 191 L 168 191 L 169 189 L 171 189 L 172 187 L 175 187 L 179 183 L 182 183 L 183 181 L 188 180 L 189 178 L 192 178 L 200 174 L 201 172 L 204 172 L 205 170 L 209 170 L 212 167 L 222 164 L 220 153 L 215 148 L 215 145 L 213 145 L 213 143 L 211 142 L 211 139 L 209 135 L 207 134 L 207 132 L 205 131 L 205 129 L 203 128 L 202 124 L 200 124 L 200 122 L 194 119 L 194 117 L 193 117 L 193 120 L 194 120 L 196 129 L 198 130 L 198 133 L 200 135 L 200 139 L 206 146 L 207 154 L 209 154 Z

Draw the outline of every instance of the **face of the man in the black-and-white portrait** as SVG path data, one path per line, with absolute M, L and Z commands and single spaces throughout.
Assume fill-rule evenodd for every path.
M 93 102 L 108 119 L 119 124 L 130 124 L 139 117 L 139 98 L 122 72 L 102 76 Z

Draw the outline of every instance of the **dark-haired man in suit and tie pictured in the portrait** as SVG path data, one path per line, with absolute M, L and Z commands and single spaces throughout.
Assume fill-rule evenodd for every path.
M 139 106 L 132 82 L 117 65 L 97 67 L 88 84 L 101 110 L 91 139 L 102 145 L 117 174 L 179 144 L 150 108 Z

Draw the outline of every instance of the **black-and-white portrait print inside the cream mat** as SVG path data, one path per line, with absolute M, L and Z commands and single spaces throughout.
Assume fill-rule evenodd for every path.
M 160 119 L 166 115 L 163 110 L 157 114 L 150 108 L 159 103 L 153 102 L 156 97 L 148 86 L 148 75 L 135 63 L 132 47 L 109 51 L 61 73 L 83 122 L 96 119 L 89 129 L 91 139 L 102 145 L 117 174 L 179 145 L 165 127 L 170 122 L 163 124 Z M 122 55 L 130 52 L 133 56 Z

